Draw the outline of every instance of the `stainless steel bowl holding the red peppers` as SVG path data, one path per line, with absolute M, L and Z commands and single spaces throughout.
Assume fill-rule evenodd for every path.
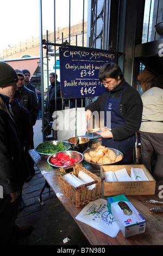
M 60 153 L 60 152 L 55 153 L 55 154 L 49 156 L 49 157 L 48 157 L 48 160 L 47 160 L 48 163 L 49 163 L 52 167 L 54 167 L 54 168 L 67 167 L 67 166 L 55 166 L 54 164 L 52 164 L 52 163 L 50 162 L 51 159 L 52 159 L 53 157 L 57 157 L 59 153 Z M 83 155 L 82 155 L 81 153 L 77 152 L 77 151 L 61 151 L 61 153 L 64 154 L 64 155 L 71 156 L 71 157 L 73 157 L 73 158 L 78 158 L 78 162 L 77 162 L 77 163 L 80 163 L 80 162 L 83 161 Z M 72 164 L 72 166 L 73 166 L 73 164 Z M 71 166 L 69 166 L 69 167 L 71 167 Z

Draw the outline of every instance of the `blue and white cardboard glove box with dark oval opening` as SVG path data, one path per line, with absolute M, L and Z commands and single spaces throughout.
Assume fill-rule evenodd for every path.
M 146 221 L 124 194 L 109 197 L 107 206 L 124 237 L 145 232 Z

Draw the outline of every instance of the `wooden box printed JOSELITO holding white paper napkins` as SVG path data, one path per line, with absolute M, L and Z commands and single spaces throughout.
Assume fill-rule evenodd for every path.
M 147 168 L 143 164 L 127 164 L 127 165 L 105 165 L 101 166 L 101 178 L 104 177 L 103 172 L 109 170 L 116 171 L 126 168 L 130 175 L 131 167 L 142 168 L 145 172 L 148 181 L 117 181 L 117 182 L 105 182 L 102 185 L 102 194 L 105 197 L 117 196 L 118 194 L 125 194 L 126 196 L 146 195 L 155 194 L 156 181 L 154 180 L 151 173 L 148 172 Z

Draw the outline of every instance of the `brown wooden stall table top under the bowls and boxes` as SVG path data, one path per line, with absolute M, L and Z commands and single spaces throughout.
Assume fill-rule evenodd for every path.
M 149 211 L 153 207 L 161 207 L 161 204 L 151 204 L 146 202 L 147 198 L 161 200 L 159 197 L 163 197 L 163 193 L 161 193 L 161 190 L 163 192 L 162 185 L 156 185 L 155 194 L 152 196 L 127 196 L 131 204 L 134 205 L 137 211 L 139 211 L 141 216 L 146 220 L 145 233 L 125 238 L 121 231 L 119 231 L 117 236 L 113 238 L 83 222 L 77 221 L 76 216 L 82 211 L 85 205 L 75 207 L 71 200 L 62 192 L 57 173 L 49 166 L 47 160 L 42 159 L 34 149 L 29 150 L 29 154 L 39 168 L 47 184 L 52 188 L 60 202 L 71 214 L 86 239 L 90 242 L 90 245 L 163 245 L 163 211 L 162 213 L 152 213 Z M 99 170 L 93 171 L 90 167 L 89 170 L 96 173 L 96 175 L 100 175 Z

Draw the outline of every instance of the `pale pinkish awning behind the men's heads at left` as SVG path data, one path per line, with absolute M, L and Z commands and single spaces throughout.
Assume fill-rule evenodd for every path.
M 40 58 L 30 58 L 30 59 L 18 59 L 18 60 L 4 60 L 6 63 L 8 63 L 10 66 L 12 66 L 13 69 L 28 69 L 30 72 L 30 77 L 33 76 L 39 62 Z

